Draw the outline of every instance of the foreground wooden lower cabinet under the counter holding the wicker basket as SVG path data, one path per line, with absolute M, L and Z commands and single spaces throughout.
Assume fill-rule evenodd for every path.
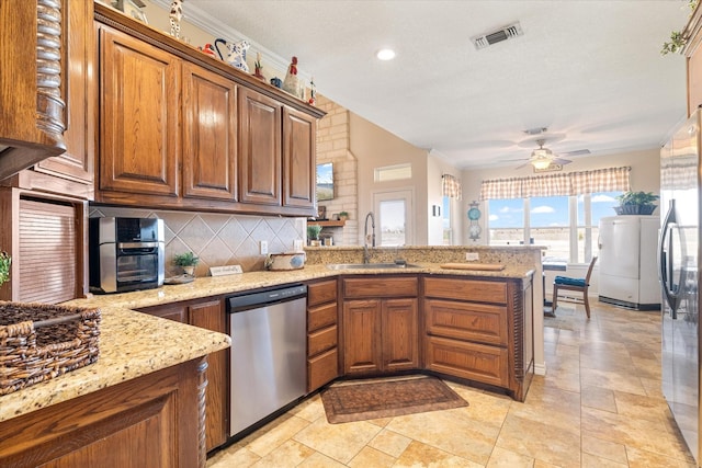
M 206 358 L 0 423 L 2 467 L 205 467 Z

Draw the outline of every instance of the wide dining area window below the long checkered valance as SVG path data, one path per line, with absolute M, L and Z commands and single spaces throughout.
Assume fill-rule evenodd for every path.
M 545 246 L 544 260 L 588 263 L 597 254 L 600 218 L 614 216 L 622 192 L 578 196 L 535 196 L 490 199 L 490 246 L 524 242 Z

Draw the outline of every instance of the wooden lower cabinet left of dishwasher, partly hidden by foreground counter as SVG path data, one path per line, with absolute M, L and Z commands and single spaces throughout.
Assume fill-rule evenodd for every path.
M 140 309 L 141 312 L 226 333 L 226 317 L 219 298 L 174 303 Z M 227 441 L 229 424 L 229 350 L 207 357 L 206 447 L 216 448 Z

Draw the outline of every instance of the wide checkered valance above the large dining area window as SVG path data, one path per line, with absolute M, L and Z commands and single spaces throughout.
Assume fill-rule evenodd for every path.
M 531 178 L 485 180 L 480 184 L 480 199 L 626 192 L 631 190 L 631 170 L 629 167 L 608 168 Z

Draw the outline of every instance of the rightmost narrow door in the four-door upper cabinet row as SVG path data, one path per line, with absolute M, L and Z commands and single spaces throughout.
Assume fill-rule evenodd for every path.
M 307 114 L 283 110 L 283 206 L 315 204 L 317 121 Z

